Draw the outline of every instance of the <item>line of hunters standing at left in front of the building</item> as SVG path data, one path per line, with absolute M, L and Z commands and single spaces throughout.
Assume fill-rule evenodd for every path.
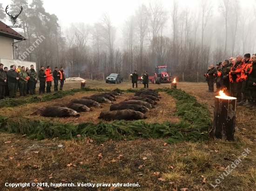
M 58 91 L 58 82 L 61 83 L 60 90 L 62 90 L 65 74 L 63 67 L 58 71 L 58 67 L 55 67 L 54 72 L 51 72 L 51 67 L 47 66 L 44 70 L 44 66 L 40 67 L 37 73 L 34 70 L 34 65 L 30 65 L 30 70 L 25 69 L 25 66 L 18 66 L 13 64 L 10 66 L 10 70 L 4 67 L 4 64 L 0 64 L 0 99 L 14 98 L 19 89 L 20 96 L 35 95 L 36 83 L 39 80 L 39 94 L 51 92 L 52 82 L 54 81 L 54 91 Z M 45 83 L 47 86 L 45 87 Z

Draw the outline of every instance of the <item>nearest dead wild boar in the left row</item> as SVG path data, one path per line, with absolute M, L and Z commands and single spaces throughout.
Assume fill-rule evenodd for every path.
M 34 113 L 29 115 L 41 115 L 44 117 L 72 117 L 79 116 L 80 113 L 67 107 L 48 106 L 45 108 L 38 108 Z

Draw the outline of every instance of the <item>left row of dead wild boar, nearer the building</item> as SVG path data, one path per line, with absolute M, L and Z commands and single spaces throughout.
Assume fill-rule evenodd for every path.
M 69 117 L 79 116 L 80 112 L 91 111 L 91 108 L 102 108 L 101 103 L 112 103 L 116 101 L 116 96 L 123 94 L 121 91 L 114 90 L 101 94 L 94 94 L 81 99 L 72 99 L 69 103 L 56 103 L 52 106 L 38 108 L 29 115 L 41 115 L 44 117 Z

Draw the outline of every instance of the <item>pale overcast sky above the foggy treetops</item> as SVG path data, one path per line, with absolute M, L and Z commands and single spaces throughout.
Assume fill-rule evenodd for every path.
M 173 0 L 161 1 L 170 13 Z M 11 4 L 11 0 L 0 0 L 0 2 L 4 8 Z M 28 0 L 28 2 L 30 4 L 32 0 Z M 68 27 L 72 22 L 84 22 L 93 25 L 99 20 L 102 13 L 108 12 L 113 25 L 118 28 L 117 36 L 120 37 L 125 19 L 134 13 L 139 5 L 145 4 L 148 6 L 150 0 L 43 0 L 43 2 L 46 12 L 57 15 L 62 27 Z M 212 2 L 214 4 L 214 14 L 219 14 L 219 0 L 212 0 Z M 255 0 L 241 0 L 240 2 L 243 7 L 256 6 Z M 179 0 L 179 5 L 181 8 L 189 6 L 192 11 L 200 11 L 199 0 Z M 168 16 L 167 30 L 165 30 L 164 35 L 170 37 L 172 33 L 170 14 Z M 11 23 L 9 22 L 9 24 Z

